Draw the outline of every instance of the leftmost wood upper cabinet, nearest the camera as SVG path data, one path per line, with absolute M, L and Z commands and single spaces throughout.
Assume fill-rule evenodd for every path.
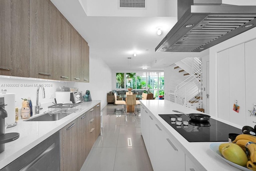
M 0 0 L 0 75 L 29 77 L 29 0 Z

